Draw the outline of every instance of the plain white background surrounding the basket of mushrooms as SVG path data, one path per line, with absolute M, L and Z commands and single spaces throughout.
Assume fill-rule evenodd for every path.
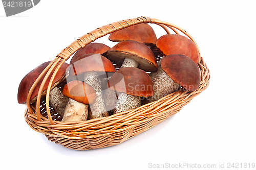
M 44 0 L 12 17 L 5 16 L 1 5 L 1 169 L 256 163 L 255 5 L 254 1 Z M 75 151 L 33 131 L 24 120 L 26 106 L 17 103 L 20 80 L 87 32 L 139 16 L 174 23 L 195 38 L 211 71 L 209 87 L 165 122 L 114 147 Z M 158 37 L 164 33 L 152 27 Z M 108 36 L 96 42 L 113 45 Z

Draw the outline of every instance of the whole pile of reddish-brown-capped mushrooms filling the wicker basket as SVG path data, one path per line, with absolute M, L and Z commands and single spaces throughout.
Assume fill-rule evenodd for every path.
M 49 102 L 62 122 L 105 117 L 160 100 L 181 88 L 199 88 L 200 57 L 189 38 L 168 34 L 157 39 L 151 26 L 141 23 L 110 34 L 109 40 L 115 45 L 90 43 L 58 70 Z M 161 54 L 160 61 L 156 51 Z M 26 104 L 32 84 L 49 63 L 39 65 L 20 82 L 19 104 Z M 50 78 L 41 98 L 46 96 Z M 36 101 L 41 81 L 30 104 Z

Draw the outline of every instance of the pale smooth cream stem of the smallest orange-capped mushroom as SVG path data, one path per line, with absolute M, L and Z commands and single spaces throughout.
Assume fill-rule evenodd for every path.
M 88 105 L 69 99 L 61 122 L 87 120 Z

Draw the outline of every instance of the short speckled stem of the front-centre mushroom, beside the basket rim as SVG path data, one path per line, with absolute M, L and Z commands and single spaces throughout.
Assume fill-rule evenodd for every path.
M 115 113 L 120 113 L 127 110 L 136 109 L 140 107 L 140 97 L 135 95 L 130 95 L 126 93 L 119 93 L 118 100 L 116 104 Z

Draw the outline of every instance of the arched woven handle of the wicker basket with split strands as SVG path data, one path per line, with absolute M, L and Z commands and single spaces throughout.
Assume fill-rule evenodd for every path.
M 56 56 L 56 58 L 46 67 L 46 69 L 44 71 L 42 71 L 41 75 L 38 76 L 38 78 L 34 82 L 33 86 L 31 87 L 31 89 L 29 91 L 27 101 L 29 101 L 30 96 L 31 96 L 37 82 L 42 78 L 42 76 L 44 76 L 44 74 L 46 74 L 46 76 L 44 77 L 44 80 L 42 81 L 42 83 L 40 85 L 39 92 L 38 92 L 38 95 L 37 95 L 37 101 L 36 101 L 37 120 L 38 121 L 41 120 L 40 96 L 41 96 L 41 92 L 42 92 L 42 87 L 45 85 L 46 80 L 48 79 L 49 75 L 54 70 L 54 67 L 57 64 L 58 64 L 58 66 L 56 67 L 56 69 L 53 72 L 53 75 L 52 75 L 51 80 L 50 80 L 49 85 L 48 85 L 47 94 L 46 94 L 47 114 L 48 114 L 50 123 L 52 125 L 54 125 L 54 122 L 51 118 L 50 109 L 49 109 L 49 93 L 50 93 L 50 89 L 52 87 L 52 82 L 53 82 L 60 66 L 66 60 L 68 60 L 70 58 L 70 56 L 73 55 L 76 51 L 80 50 L 81 48 L 83 48 L 87 44 L 95 41 L 96 39 L 98 39 L 100 37 L 103 37 L 107 34 L 113 33 L 115 31 L 130 27 L 130 26 L 133 26 L 133 25 L 137 25 L 139 23 L 155 23 L 156 25 L 161 26 L 166 31 L 167 34 L 170 34 L 168 28 L 172 29 L 176 34 L 179 34 L 178 31 L 177 31 L 177 30 L 179 30 L 182 33 L 184 33 L 188 38 L 190 38 L 197 45 L 196 41 L 185 30 L 179 28 L 178 26 L 173 25 L 172 23 L 163 22 L 163 21 L 160 21 L 158 19 L 153 19 L 153 18 L 149 18 L 149 17 L 137 17 L 137 18 L 133 18 L 133 19 L 126 19 L 126 20 L 122 20 L 122 21 L 119 21 L 119 22 L 113 22 L 113 23 L 110 23 L 109 25 L 97 28 L 94 31 L 89 32 L 89 33 L 83 35 L 82 37 L 78 38 L 77 40 L 72 42 L 68 47 L 63 49 Z M 198 45 L 197 45 L 197 47 L 198 47 Z M 199 47 L 198 47 L 198 51 L 199 51 Z M 200 51 L 199 51 L 199 54 L 200 54 Z M 29 102 L 27 102 L 27 108 L 28 108 L 28 112 L 30 112 L 30 113 L 33 112 Z

